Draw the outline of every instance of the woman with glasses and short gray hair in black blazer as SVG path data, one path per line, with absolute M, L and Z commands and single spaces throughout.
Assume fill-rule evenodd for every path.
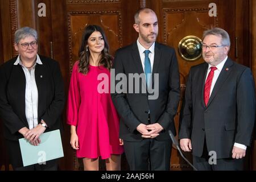
M 18 139 L 40 144 L 40 135 L 61 129 L 64 107 L 59 63 L 38 55 L 38 34 L 30 27 L 15 32 L 18 56 L 0 67 L 0 115 L 14 170 L 56 170 L 57 160 L 23 167 Z

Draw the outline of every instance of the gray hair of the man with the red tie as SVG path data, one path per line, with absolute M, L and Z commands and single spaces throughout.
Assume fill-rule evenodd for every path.
M 210 30 L 204 31 L 203 34 L 203 39 L 207 35 L 215 35 L 215 36 L 220 36 L 221 37 L 221 44 L 224 46 L 229 46 L 230 47 L 230 38 L 228 32 L 223 30 L 222 28 L 212 28 Z

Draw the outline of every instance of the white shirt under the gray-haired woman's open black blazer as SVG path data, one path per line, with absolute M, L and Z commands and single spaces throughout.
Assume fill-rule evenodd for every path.
M 43 64 L 40 57 L 36 55 L 36 63 Z M 35 67 L 36 64 L 27 69 L 20 61 L 20 55 L 16 59 L 14 65 L 20 64 L 26 77 L 26 90 L 25 90 L 25 113 L 29 129 L 33 129 L 38 125 L 38 88 L 35 81 Z

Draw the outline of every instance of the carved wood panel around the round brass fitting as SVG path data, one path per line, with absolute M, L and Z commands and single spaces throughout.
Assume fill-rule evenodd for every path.
M 203 59 L 195 61 L 184 60 L 177 48 L 180 40 L 193 35 L 202 40 L 202 32 L 210 27 L 218 26 L 218 17 L 210 17 L 208 8 L 197 9 L 164 9 L 164 43 L 174 47 L 179 63 L 181 84 L 185 84 L 185 77 L 193 65 L 203 63 Z

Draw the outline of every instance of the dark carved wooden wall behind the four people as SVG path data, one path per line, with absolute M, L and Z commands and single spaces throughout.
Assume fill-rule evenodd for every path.
M 46 4 L 46 17 L 38 16 L 38 4 Z M 216 3 L 217 16 L 210 17 L 209 3 Z M 253 6 L 254 5 L 254 6 Z M 67 93 L 73 63 L 78 59 L 77 52 L 82 30 L 87 24 L 100 25 L 108 37 L 110 53 L 137 40 L 133 29 L 134 13 L 140 7 L 150 7 L 159 20 L 158 42 L 172 46 L 179 61 L 181 90 L 184 93 L 189 68 L 203 62 L 184 60 L 177 49 L 182 38 L 194 35 L 202 38 L 204 30 L 221 27 L 228 31 L 232 43 L 229 56 L 253 68 L 256 78 L 256 28 L 254 0 L 8 0 L 0 1 L 0 64 L 16 55 L 13 48 L 14 32 L 20 27 L 30 26 L 39 34 L 39 53 L 59 61 Z M 9 26 L 7 26 L 9 25 Z M 253 46 L 254 45 L 254 46 Z M 4 61 L 3 61 L 4 60 Z M 181 97 L 180 105 L 183 98 Z M 179 127 L 180 107 L 175 117 Z M 65 157 L 60 160 L 60 169 L 81 169 L 81 161 L 69 144 L 69 126 L 65 124 L 63 111 L 63 147 Z M 2 138 L 1 138 L 2 139 Z M 0 140 L 1 141 L 1 140 Z M 5 146 L 0 143 L 0 151 Z M 247 167 L 255 169 L 256 151 L 247 158 Z M 1 155 L 0 155 L 1 156 Z M 191 155 L 188 155 L 191 158 Z M 0 165 L 5 157 L 0 157 Z M 250 162 L 251 160 L 251 162 Z M 191 169 L 181 159 L 176 148 L 172 148 L 172 170 Z M 250 165 L 251 164 L 251 165 Z M 0 166 L 1 168 L 1 166 Z M 127 169 L 125 158 L 122 169 Z

